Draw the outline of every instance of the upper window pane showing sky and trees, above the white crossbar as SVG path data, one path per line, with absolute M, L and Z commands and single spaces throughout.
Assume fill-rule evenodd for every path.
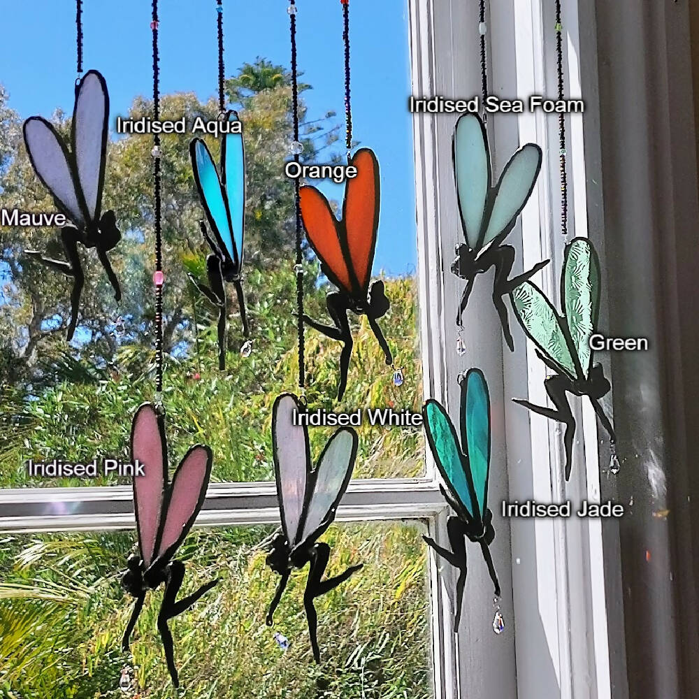
M 32 478 L 25 464 L 27 459 L 89 463 L 106 456 L 127 458 L 131 416 L 141 401 L 153 398 L 152 139 L 114 132 L 117 116 L 138 119 L 150 114 L 150 104 L 138 97 L 150 94 L 150 38 L 146 36 L 143 45 L 134 42 L 134 55 L 126 63 L 121 45 L 112 45 L 106 37 L 104 43 L 90 38 L 98 32 L 101 36 L 100 28 L 106 24 L 115 27 L 115 22 L 128 20 L 128 29 L 115 27 L 116 36 L 129 35 L 139 16 L 145 24 L 149 21 L 140 1 L 125 0 L 120 7 L 119 17 L 101 7 L 86 8 L 84 15 L 90 60 L 99 64 L 110 89 L 112 132 L 104 209 L 115 210 L 123 233 L 119 245 L 109 253 L 123 298 L 115 302 L 99 261 L 81 250 L 86 283 L 78 330 L 67 344 L 71 280 L 29 261 L 23 252 L 31 248 L 64 259 L 57 229 L 3 228 L 0 413 L 5 421 L 0 424 L 0 487 L 125 482 L 114 477 Z M 210 251 L 199 229 L 203 210 L 194 187 L 189 142 L 201 136 L 192 132 L 196 116 L 215 121 L 217 115 L 212 98 L 217 87 L 215 15 L 203 8 L 194 12 L 182 2 L 165 3 L 161 11 L 162 116 L 165 120 L 185 117 L 188 124 L 185 134 L 166 134 L 162 144 L 168 436 L 174 454 L 185 452 L 190 442 L 210 444 L 215 454 L 214 481 L 267 480 L 272 475 L 267 436 L 271 404 L 282 389 L 296 388 L 297 371 L 294 187 L 284 175 L 291 128 L 289 15 L 278 0 L 243 3 L 236 6 L 235 13 L 224 13 L 226 75 L 231 78 L 228 99 L 245 123 L 244 286 L 254 349 L 250 356 L 240 354 L 245 338 L 236 294 L 229 285 L 228 352 L 226 371 L 221 372 L 217 368 L 217 310 L 187 278 L 192 273 L 207 283 L 206 255 Z M 57 31 L 72 35 L 74 13 L 57 13 L 49 0 L 38 0 L 31 11 L 29 6 L 18 5 L 10 19 L 17 26 L 35 27 L 39 53 L 34 64 L 3 72 L 8 92 L 0 89 L 0 114 L 8 124 L 5 131 L 19 134 L 25 118 L 34 114 L 49 117 L 60 108 L 67 115 L 61 127 L 67 137 L 75 56 L 67 50 L 57 52 L 55 37 Z M 303 72 L 303 159 L 321 164 L 344 162 L 342 5 L 305 1 L 297 20 L 298 62 Z M 373 148 L 381 168 L 373 278 L 384 276 L 391 310 L 380 324 L 405 382 L 400 387 L 394 384 L 394 370 L 385 364 L 366 317 L 358 319 L 350 313 L 355 343 L 345 398 L 339 405 L 335 400 L 340 343 L 310 328 L 306 329 L 308 397 L 314 409 L 419 410 L 422 370 L 417 337 L 412 120 L 406 108 L 410 94 L 407 1 L 353 2 L 350 26 L 354 148 Z M 185 43 L 198 50 L 182 52 Z M 0 47 L 0 57 L 5 50 Z M 52 80 L 46 89 L 37 90 L 34 69 L 42 64 L 52 66 Z M 219 140 L 206 138 L 218 164 Z M 36 180 L 21 138 L 10 138 L 6 145 L 8 152 L 0 152 L 0 206 L 54 210 L 48 192 Z M 308 183 L 341 204 L 344 183 Z M 329 323 L 325 296 L 331 287 L 310 251 L 306 268 L 306 312 Z M 395 427 L 389 432 L 368 426 L 366 414 L 362 417 L 362 452 L 355 477 L 407 477 L 422 472 L 419 428 Z M 173 459 L 171 467 L 175 466 Z

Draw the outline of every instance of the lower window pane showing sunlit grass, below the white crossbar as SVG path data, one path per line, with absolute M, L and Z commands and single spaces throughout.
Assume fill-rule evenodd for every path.
M 192 699 L 287 696 L 426 699 L 431 689 L 426 554 L 417 526 L 333 526 L 329 575 L 364 567 L 317 600 L 322 665 L 303 614 L 308 568 L 292 575 L 272 627 L 278 576 L 254 547 L 271 528 L 195 531 L 181 551 L 182 595 L 220 582 L 171 622 L 182 686 Z M 120 567 L 134 535 L 6 536 L 0 542 L 0 686 L 36 699 L 118 696 L 120 640 L 131 600 Z M 150 594 L 131 649 L 143 698 L 171 696 L 157 636 L 161 592 Z M 289 639 L 284 652 L 278 632 Z M 10 696 L 15 696 L 10 694 Z

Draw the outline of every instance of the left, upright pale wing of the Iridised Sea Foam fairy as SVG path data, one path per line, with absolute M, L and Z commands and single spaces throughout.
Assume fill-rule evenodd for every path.
M 475 114 L 464 114 L 456 122 L 454 175 L 466 242 L 477 250 L 490 188 L 490 156 L 485 129 Z

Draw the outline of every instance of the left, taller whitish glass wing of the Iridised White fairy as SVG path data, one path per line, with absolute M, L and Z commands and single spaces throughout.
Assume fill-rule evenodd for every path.
M 272 454 L 282 527 L 289 545 L 298 539 L 310 471 L 308 428 L 294 424 L 301 406 L 296 396 L 278 396 L 272 408 Z

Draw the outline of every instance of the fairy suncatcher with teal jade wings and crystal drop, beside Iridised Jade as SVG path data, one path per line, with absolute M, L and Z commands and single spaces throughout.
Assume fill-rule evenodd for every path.
M 447 490 L 442 495 L 456 512 L 447 521 L 451 550 L 424 537 L 437 554 L 459 570 L 456 582 L 454 630 L 459 628 L 461 603 L 466 586 L 466 539 L 480 545 L 488 572 L 500 597 L 500 583 L 490 553 L 495 538 L 493 513 L 488 509 L 490 475 L 490 398 L 488 384 L 480 369 L 470 369 L 461 382 L 461 442 L 447 411 L 430 398 L 422 408 L 427 441 Z M 496 604 L 493 629 L 503 630 L 503 619 Z

